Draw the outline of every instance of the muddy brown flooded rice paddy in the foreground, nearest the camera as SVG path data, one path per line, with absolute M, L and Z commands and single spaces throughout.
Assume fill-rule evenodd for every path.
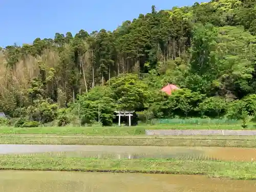
M 205 176 L 1 171 L 1 192 L 252 192 L 255 181 Z

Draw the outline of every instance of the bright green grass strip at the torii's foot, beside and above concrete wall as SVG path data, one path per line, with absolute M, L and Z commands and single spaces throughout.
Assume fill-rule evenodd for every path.
M 256 130 L 248 126 L 246 130 Z M 85 136 L 129 136 L 145 135 L 145 130 L 242 130 L 240 124 L 159 124 L 138 125 L 132 127 L 0 127 L 0 134 L 54 134 L 54 135 L 85 135 Z

